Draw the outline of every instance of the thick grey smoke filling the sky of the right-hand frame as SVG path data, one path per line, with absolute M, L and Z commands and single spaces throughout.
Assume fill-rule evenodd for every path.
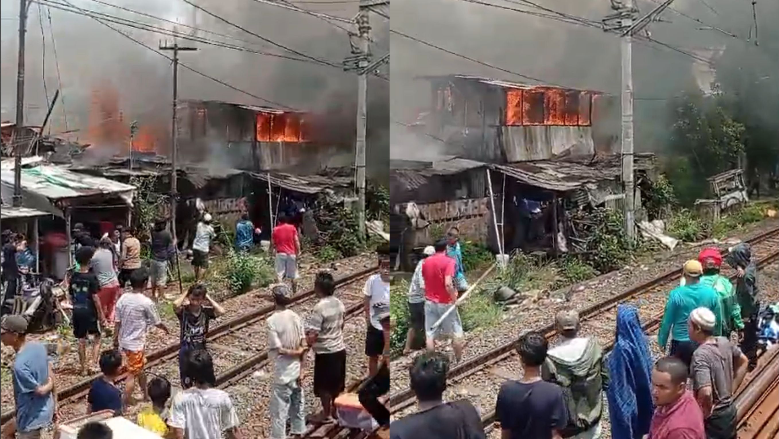
M 487 1 L 513 9 L 543 12 L 521 1 Z M 657 6 L 656 2 L 647 0 L 636 2 L 642 14 Z M 612 12 L 609 2 L 605 0 L 543 0 L 536 3 L 548 9 L 594 20 L 601 20 Z M 671 10 L 663 12 L 662 21 L 649 26 L 651 37 L 685 51 L 700 52 L 702 56 L 708 56 L 707 49 L 724 49 L 725 54 L 740 54 L 738 57 L 721 56 L 717 65 L 720 75 L 728 71 L 737 78 L 752 77 L 753 66 L 760 65 L 762 75 L 768 76 L 765 79 L 767 93 L 764 93 L 763 104 L 775 108 L 777 2 L 757 4 L 760 47 L 755 47 L 753 41 L 746 42 L 753 24 L 749 2 L 707 0 L 705 3 L 700 0 L 677 0 L 671 7 L 679 13 Z M 392 16 L 393 30 L 539 79 L 541 83 L 601 90 L 616 95 L 620 93 L 620 44 L 619 37 L 612 33 L 461 0 L 394 0 Z M 740 40 L 717 30 L 699 30 L 705 26 L 728 30 Z M 752 32 L 754 36 L 754 30 Z M 390 113 L 397 121 L 414 121 L 430 105 L 429 83 L 415 79 L 418 76 L 462 73 L 536 83 L 532 79 L 457 58 L 397 34 L 391 34 L 390 46 L 393 54 Z M 659 44 L 640 41 L 633 44 L 637 150 L 661 149 L 664 139 L 667 139 L 668 99 L 699 88 L 698 83 L 702 80 L 700 72 L 706 69 L 701 69 L 700 63 L 695 63 L 692 58 Z M 699 72 L 697 77 L 693 72 Z M 771 113 L 761 109 L 756 112 L 764 114 L 763 117 L 773 117 L 776 124 L 775 111 Z M 405 129 L 393 123 L 393 158 L 411 155 L 421 147 L 416 142 L 395 141 L 395 133 Z M 615 134 L 619 135 L 619 132 Z M 427 140 L 422 139 L 420 142 Z

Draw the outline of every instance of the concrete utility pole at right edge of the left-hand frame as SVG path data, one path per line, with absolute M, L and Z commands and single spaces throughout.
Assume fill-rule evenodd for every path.
M 365 137 L 368 131 L 368 115 L 366 111 L 368 100 L 368 59 L 370 58 L 371 24 L 368 8 L 360 2 L 360 13 L 357 16 L 359 33 L 358 46 L 358 77 L 357 77 L 357 142 L 354 145 L 354 186 L 357 188 L 357 223 L 360 237 L 365 237 Z

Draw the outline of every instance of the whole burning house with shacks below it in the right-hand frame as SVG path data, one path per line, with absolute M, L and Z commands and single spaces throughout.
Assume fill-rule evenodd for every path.
M 475 76 L 428 79 L 431 107 L 412 130 L 439 139 L 446 156 L 391 160 L 397 268 L 409 267 L 415 248 L 451 226 L 496 252 L 576 252 L 572 212 L 622 208 L 613 97 Z M 634 163 L 636 179 L 650 177 L 654 155 L 636 153 Z

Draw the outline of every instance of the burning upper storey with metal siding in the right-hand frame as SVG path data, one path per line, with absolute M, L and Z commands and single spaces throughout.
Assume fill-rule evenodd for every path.
M 530 86 L 478 76 L 434 76 L 419 128 L 447 153 L 488 163 L 614 152 L 619 101 L 593 90 Z

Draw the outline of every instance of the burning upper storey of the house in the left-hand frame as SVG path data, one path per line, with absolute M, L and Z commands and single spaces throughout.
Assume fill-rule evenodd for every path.
M 315 174 L 350 164 L 350 145 L 328 145 L 319 118 L 299 111 L 187 100 L 182 103 L 182 155 L 241 170 Z

